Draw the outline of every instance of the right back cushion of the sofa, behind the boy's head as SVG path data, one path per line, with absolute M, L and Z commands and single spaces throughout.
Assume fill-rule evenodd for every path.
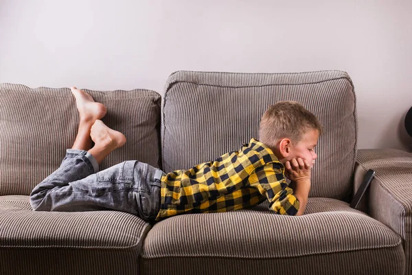
M 190 168 L 258 138 L 260 117 L 281 100 L 303 104 L 324 133 L 312 170 L 310 197 L 351 192 L 356 154 L 356 100 L 345 72 L 287 74 L 176 72 L 162 103 L 163 170 Z

